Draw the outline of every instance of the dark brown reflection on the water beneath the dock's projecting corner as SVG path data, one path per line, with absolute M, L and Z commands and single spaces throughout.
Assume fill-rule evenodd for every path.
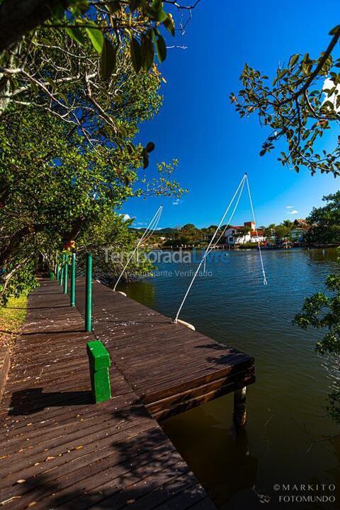
M 222 404 L 225 399 L 216 402 Z M 230 494 L 248 492 L 253 497 L 257 479 L 258 460 L 249 452 L 247 432 L 236 432 L 230 421 L 230 402 L 228 399 L 227 408 L 218 413 L 214 405 L 205 404 L 183 414 L 180 424 L 176 416 L 164 424 L 171 441 L 188 465 L 195 466 L 196 476 L 220 508 Z

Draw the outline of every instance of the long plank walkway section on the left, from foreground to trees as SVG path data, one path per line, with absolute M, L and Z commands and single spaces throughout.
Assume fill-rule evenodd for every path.
M 84 320 L 57 283 L 29 298 L 0 404 L 4 509 L 215 509 L 117 366 L 92 404 Z

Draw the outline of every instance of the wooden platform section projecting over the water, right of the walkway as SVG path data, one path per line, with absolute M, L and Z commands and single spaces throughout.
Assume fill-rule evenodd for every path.
M 158 420 L 254 382 L 254 358 L 94 282 L 93 330 Z M 84 314 L 85 280 L 77 279 Z

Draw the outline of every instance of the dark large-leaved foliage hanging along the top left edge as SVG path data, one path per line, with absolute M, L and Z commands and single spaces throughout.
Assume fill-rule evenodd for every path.
M 34 44 L 36 31 L 43 27 L 49 33 L 57 30 L 67 32 L 79 44 L 87 37 L 98 52 L 103 63 L 113 66 L 114 54 L 105 55 L 105 37 L 115 35 L 120 45 L 125 38 L 131 43 L 131 60 L 139 71 L 142 65 L 151 67 L 154 46 L 159 60 L 166 57 L 166 45 L 159 26 L 174 35 L 175 23 L 164 4 L 174 6 L 175 12 L 186 11 L 188 18 L 179 21 L 181 30 L 191 19 L 192 5 L 173 0 L 3 0 L 0 4 L 0 55 L 19 45 L 25 38 Z M 128 15 L 128 18 L 127 16 Z M 110 38 L 108 38 L 110 42 Z

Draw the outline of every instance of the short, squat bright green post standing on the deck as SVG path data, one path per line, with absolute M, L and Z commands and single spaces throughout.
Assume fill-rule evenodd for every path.
M 96 404 L 111 399 L 111 385 L 108 368 L 111 365 L 110 354 L 101 341 L 87 342 L 87 356 L 89 356 L 91 391 Z

